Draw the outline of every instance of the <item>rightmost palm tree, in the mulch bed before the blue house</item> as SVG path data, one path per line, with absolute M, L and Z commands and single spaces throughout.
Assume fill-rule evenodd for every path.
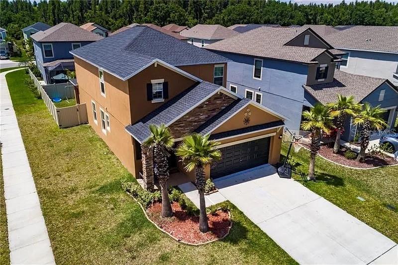
M 380 105 L 372 107 L 368 102 L 365 102 L 361 112 L 357 114 L 354 119 L 354 124 L 361 126 L 361 150 L 359 151 L 357 161 L 365 161 L 365 151 L 369 145 L 369 136 L 372 130 L 381 130 L 387 126 L 383 119 L 383 114 L 386 110 L 380 108 Z

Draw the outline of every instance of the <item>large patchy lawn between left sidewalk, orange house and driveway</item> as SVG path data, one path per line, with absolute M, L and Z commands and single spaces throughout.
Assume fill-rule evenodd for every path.
M 160 232 L 122 190 L 133 177 L 92 128 L 59 129 L 18 80 L 24 71 L 6 78 L 57 264 L 296 264 L 232 204 L 221 241 L 193 247 Z

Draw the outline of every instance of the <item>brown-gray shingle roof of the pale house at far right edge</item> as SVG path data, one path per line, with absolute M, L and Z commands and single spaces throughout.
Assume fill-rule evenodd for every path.
M 398 26 L 350 26 L 324 38 L 337 49 L 398 53 Z

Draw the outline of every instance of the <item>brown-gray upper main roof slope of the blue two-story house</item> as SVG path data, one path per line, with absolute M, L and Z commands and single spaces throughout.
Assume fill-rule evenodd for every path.
M 260 27 L 205 46 L 208 50 L 245 54 L 300 63 L 314 63 L 326 49 L 284 45 L 305 29 Z

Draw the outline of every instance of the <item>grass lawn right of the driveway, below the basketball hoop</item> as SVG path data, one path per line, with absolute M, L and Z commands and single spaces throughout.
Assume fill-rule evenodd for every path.
M 288 145 L 283 144 L 286 155 Z M 304 148 L 296 154 L 302 172 L 308 172 L 309 152 Z M 346 210 L 382 234 L 398 242 L 398 166 L 373 170 L 353 170 L 330 163 L 317 156 L 315 163 L 317 181 L 302 181 L 293 177 L 315 193 Z M 357 197 L 365 198 L 360 201 Z M 387 204 L 396 207 L 391 210 Z

